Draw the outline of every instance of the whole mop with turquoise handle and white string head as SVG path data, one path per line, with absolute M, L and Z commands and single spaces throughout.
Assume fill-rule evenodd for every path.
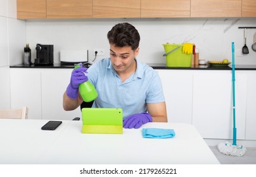
M 234 93 L 234 42 L 232 42 L 232 85 L 233 85 L 233 144 L 222 142 L 217 145 L 219 152 L 229 156 L 243 156 L 246 148 L 243 145 L 236 145 L 236 104 Z

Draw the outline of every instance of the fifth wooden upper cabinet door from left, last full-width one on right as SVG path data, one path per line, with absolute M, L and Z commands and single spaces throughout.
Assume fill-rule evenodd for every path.
M 191 0 L 191 17 L 241 17 L 242 0 Z

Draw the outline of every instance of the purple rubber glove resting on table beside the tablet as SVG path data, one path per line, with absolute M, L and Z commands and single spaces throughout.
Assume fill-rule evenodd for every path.
M 139 128 L 141 125 L 151 122 L 152 118 L 148 113 L 132 114 L 123 121 L 124 128 Z

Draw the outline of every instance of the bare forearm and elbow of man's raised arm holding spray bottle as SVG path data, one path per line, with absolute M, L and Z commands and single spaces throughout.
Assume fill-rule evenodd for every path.
M 74 109 L 77 109 L 77 107 L 79 107 L 80 104 L 82 104 L 82 102 L 83 102 L 83 99 L 80 93 L 77 99 L 70 99 L 70 97 L 68 97 L 66 92 L 63 94 L 63 109 L 65 111 L 72 111 Z

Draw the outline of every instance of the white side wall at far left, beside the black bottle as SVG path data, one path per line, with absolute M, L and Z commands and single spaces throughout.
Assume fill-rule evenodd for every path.
M 25 21 L 16 20 L 16 0 L 0 0 L 0 109 L 11 107 L 9 66 L 22 63 L 23 46 Z

